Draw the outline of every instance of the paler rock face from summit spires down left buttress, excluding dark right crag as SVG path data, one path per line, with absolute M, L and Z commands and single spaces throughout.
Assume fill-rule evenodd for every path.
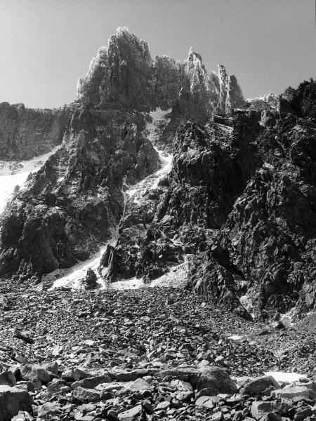
M 219 91 L 218 75 L 209 74 L 192 49 L 185 62 L 152 59 L 145 41 L 120 28 L 79 80 L 77 100 L 70 107 L 34 111 L 2 105 L 2 127 L 12 128 L 0 127 L 2 143 L 13 145 L 4 156 L 22 156 L 14 146 L 20 138 L 11 132 L 26 133 L 24 157 L 33 154 L 34 136 L 44 139 L 44 149 L 61 139 L 62 147 L 15 192 L 1 215 L 0 276 L 41 279 L 96 253 L 113 237 L 124 213 L 124 185 L 159 168 L 157 151 L 145 133 L 146 112 L 171 108 L 161 141 L 171 148 L 180 123 L 211 118 Z M 114 255 L 111 262 L 115 264 Z

